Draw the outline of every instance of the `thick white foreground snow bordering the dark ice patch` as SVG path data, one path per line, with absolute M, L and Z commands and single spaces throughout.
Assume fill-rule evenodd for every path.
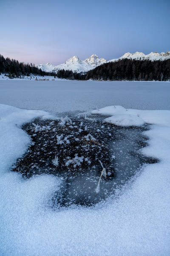
M 150 141 L 142 153 L 161 162 L 145 165 L 116 200 L 54 211 L 50 202 L 59 189 L 57 177 L 25 180 L 9 171 L 30 143 L 20 125 L 45 112 L 4 105 L 0 110 L 0 255 L 169 255 L 170 111 L 127 110 L 155 123 L 145 132 Z

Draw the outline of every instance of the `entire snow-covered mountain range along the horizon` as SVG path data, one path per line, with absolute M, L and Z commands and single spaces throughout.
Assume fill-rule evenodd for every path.
M 115 62 L 120 59 L 147 59 L 147 60 L 166 60 L 170 59 L 170 52 L 167 53 L 149 53 L 145 55 L 141 52 L 136 53 L 125 53 L 123 56 L 121 56 L 118 59 L 111 59 L 108 62 Z M 57 73 L 58 70 L 64 69 L 64 70 L 72 70 L 77 73 L 86 73 L 89 70 L 92 70 L 96 68 L 99 65 L 102 65 L 103 63 L 106 63 L 106 59 L 99 59 L 99 57 L 96 54 L 91 55 L 89 58 L 85 60 L 80 60 L 77 56 L 73 56 L 71 59 L 68 59 L 65 63 L 54 66 L 50 62 L 47 64 L 39 64 L 37 65 L 37 68 L 41 69 L 45 72 L 55 72 Z

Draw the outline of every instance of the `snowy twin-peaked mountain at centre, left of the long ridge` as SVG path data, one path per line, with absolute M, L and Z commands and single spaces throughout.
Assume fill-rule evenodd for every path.
M 106 62 L 106 59 L 99 59 L 96 54 L 91 55 L 88 59 L 80 60 L 77 56 L 73 56 L 71 59 L 68 59 L 64 64 L 53 66 L 50 62 L 47 64 L 39 64 L 37 68 L 42 69 L 46 72 L 56 72 L 61 69 L 72 70 L 77 73 L 85 73 L 97 66 Z

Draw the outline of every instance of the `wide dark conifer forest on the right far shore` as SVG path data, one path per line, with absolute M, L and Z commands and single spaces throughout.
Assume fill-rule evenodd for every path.
M 60 70 L 57 77 L 79 80 L 112 80 L 112 81 L 167 81 L 170 80 L 170 59 L 160 61 L 121 59 L 104 63 L 86 74 Z

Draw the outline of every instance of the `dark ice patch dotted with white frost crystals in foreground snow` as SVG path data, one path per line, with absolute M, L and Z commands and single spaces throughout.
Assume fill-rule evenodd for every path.
M 12 171 L 24 178 L 36 174 L 53 174 L 62 178 L 52 207 L 71 204 L 91 206 L 105 200 L 116 188 L 124 185 L 144 163 L 155 163 L 139 149 L 147 146 L 142 127 L 117 127 L 103 124 L 101 117 L 60 118 L 24 124 L 32 139 L 26 154 L 17 160 Z M 102 165 L 99 193 L 96 193 Z

